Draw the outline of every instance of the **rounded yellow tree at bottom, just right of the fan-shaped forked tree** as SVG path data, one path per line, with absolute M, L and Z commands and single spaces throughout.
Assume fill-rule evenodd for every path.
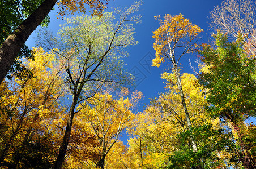
M 161 125 L 163 124 L 163 126 Z M 131 165 L 135 168 L 163 168 L 172 143 L 172 135 L 167 123 L 157 123 L 156 117 L 148 112 L 136 114 L 128 130 L 130 139 L 127 154 L 130 154 Z M 164 127 L 164 128 L 161 128 Z M 166 130 L 165 130 L 166 129 Z M 168 143 L 169 141 L 169 143 Z

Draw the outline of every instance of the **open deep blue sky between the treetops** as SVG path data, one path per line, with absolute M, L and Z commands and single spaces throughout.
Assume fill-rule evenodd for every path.
M 112 11 L 111 7 L 129 7 L 133 2 L 132 0 L 110 0 L 108 9 L 105 11 Z M 135 39 L 139 43 L 136 46 L 127 48 L 130 56 L 125 59 L 127 69 L 137 78 L 137 90 L 142 91 L 144 94 L 144 99 L 140 102 L 139 111 L 142 111 L 143 106 L 149 103 L 149 98 L 157 97 L 157 94 L 164 90 L 164 80 L 160 78 L 160 74 L 170 69 L 168 64 L 164 64 L 159 68 L 151 66 L 151 60 L 155 57 L 155 51 L 152 47 L 152 31 L 159 28 L 159 23 L 157 20 L 154 20 L 154 16 L 164 16 L 165 14 L 178 15 L 181 13 L 185 18 L 189 18 L 193 24 L 197 24 L 204 30 L 202 38 L 206 40 L 207 36 L 210 36 L 213 32 L 208 24 L 210 22 L 210 19 L 208 19 L 210 16 L 209 12 L 214 9 L 214 6 L 220 4 L 221 0 L 144 0 L 138 12 L 138 14 L 142 15 L 142 23 L 134 25 L 136 31 Z M 48 29 L 57 32 L 59 24 L 63 23 L 63 20 L 57 19 L 58 7 L 54 8 L 56 10 L 49 14 L 51 21 Z M 36 35 L 37 33 L 34 32 L 26 42 L 29 47 L 35 46 Z M 182 58 L 181 73 L 193 73 L 189 66 L 189 59 L 193 63 L 196 57 L 195 55 L 187 55 Z M 196 63 L 193 64 L 197 66 Z

